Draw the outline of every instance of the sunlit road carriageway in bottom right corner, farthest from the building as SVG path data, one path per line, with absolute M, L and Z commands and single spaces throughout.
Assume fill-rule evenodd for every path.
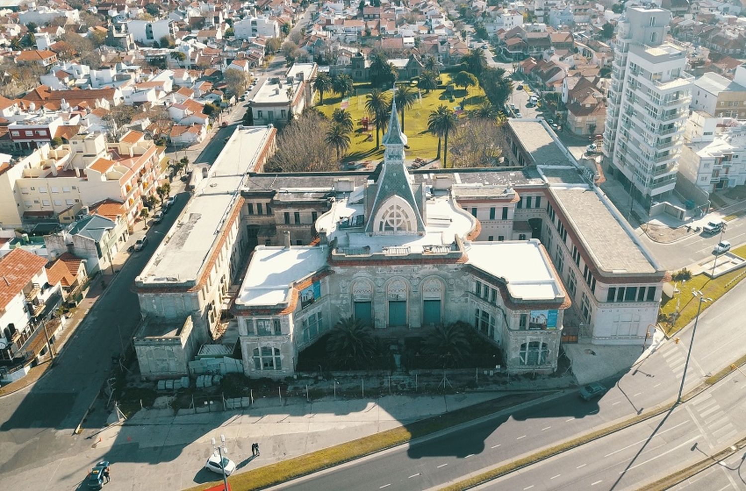
M 673 411 L 521 469 L 485 490 L 627 490 L 673 473 L 740 440 L 746 434 L 746 377 L 735 372 L 721 384 Z M 738 460 L 738 462 L 735 462 Z M 742 490 L 746 481 L 721 467 L 723 487 Z M 746 471 L 746 469 L 745 469 Z

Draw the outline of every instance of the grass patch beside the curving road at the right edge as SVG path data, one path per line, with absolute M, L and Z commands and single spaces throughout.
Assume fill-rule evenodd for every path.
M 737 247 L 732 252 L 737 256 L 746 257 L 746 246 Z M 739 268 L 723 276 L 718 276 L 715 279 L 710 279 L 706 274 L 698 274 L 697 276 L 692 276 L 692 279 L 686 283 L 679 283 L 679 293 L 674 298 L 668 298 L 663 295 L 660 305 L 662 314 L 673 314 L 676 312 L 677 303 L 679 305 L 679 317 L 676 322 L 672 326 L 669 326 L 668 323 L 663 324 L 666 334 L 673 335 L 675 332 L 683 329 L 697 315 L 699 302 L 692 295 L 692 288 L 701 291 L 705 297 L 711 298 L 714 302 L 727 291 L 733 289 L 734 286 L 738 285 L 739 282 L 742 282 L 743 279 L 746 279 L 746 274 L 742 275 L 743 272 L 744 269 Z M 730 280 L 736 277 L 738 277 L 736 281 L 730 283 Z M 726 285 L 728 285 L 727 288 Z M 702 311 L 709 308 L 710 305 L 712 305 L 712 302 L 703 303 Z

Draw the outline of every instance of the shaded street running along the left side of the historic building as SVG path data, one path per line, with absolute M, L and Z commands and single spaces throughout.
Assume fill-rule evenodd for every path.
M 131 291 L 134 278 L 163 238 L 157 232 L 171 226 L 186 200 L 180 195 L 163 222 L 151 227 L 148 247 L 134 253 L 113 277 L 66 343 L 57 366 L 31 387 L 0 399 L 0 481 L 3 475 L 54 463 L 60 454 L 90 446 L 72 432 L 110 376 L 112 357 L 121 351 L 119 332 L 128 343 L 140 320 L 137 295 Z

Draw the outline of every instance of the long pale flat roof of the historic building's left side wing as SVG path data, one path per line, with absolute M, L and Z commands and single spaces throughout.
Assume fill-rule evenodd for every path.
M 254 170 L 271 134 L 272 127 L 236 127 L 136 282 L 180 285 L 197 281 L 240 197 L 246 173 Z

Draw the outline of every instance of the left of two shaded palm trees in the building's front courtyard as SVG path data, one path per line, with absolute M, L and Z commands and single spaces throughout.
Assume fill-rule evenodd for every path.
M 330 358 L 342 366 L 366 366 L 376 352 L 376 340 L 371 327 L 353 317 L 339 320 L 330 332 L 327 352 Z

